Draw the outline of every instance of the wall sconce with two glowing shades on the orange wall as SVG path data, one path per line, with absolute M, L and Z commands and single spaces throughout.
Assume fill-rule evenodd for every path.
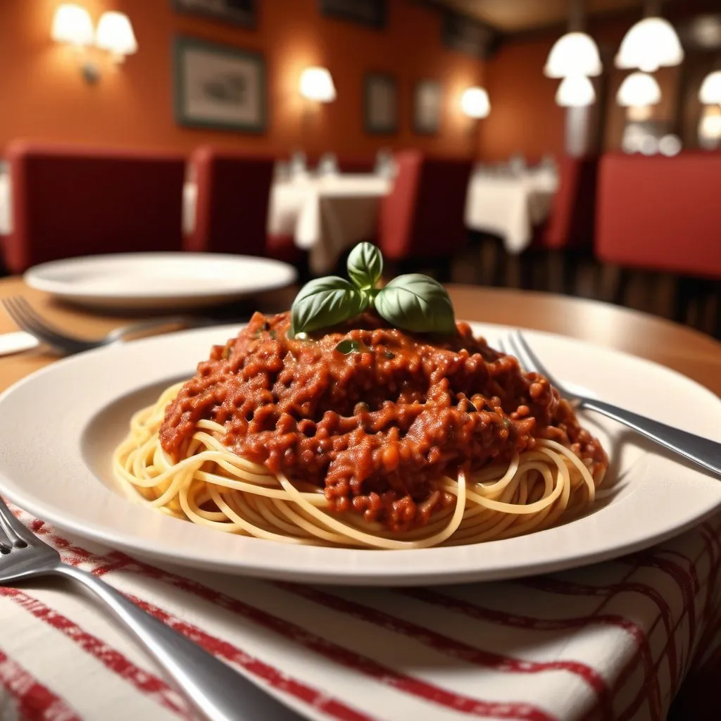
M 115 63 L 122 63 L 125 56 L 138 51 L 133 25 L 126 14 L 104 12 L 95 30 L 89 12 L 74 3 L 58 6 L 50 36 L 56 42 L 71 45 L 76 49 L 81 74 L 89 83 L 97 82 L 100 77 L 97 63 L 88 55 L 88 49 L 92 45 L 110 53 Z

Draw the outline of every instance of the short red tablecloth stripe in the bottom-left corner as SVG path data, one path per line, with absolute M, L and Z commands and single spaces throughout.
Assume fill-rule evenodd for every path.
M 0 650 L 0 686 L 13 696 L 24 721 L 82 721 L 74 709 Z

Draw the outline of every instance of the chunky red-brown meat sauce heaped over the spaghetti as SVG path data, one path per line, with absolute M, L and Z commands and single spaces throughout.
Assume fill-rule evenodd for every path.
M 538 373 L 474 338 L 409 335 L 366 314 L 353 327 L 288 338 L 290 315 L 256 313 L 167 407 L 160 441 L 176 460 L 199 420 L 235 454 L 324 489 L 332 510 L 394 531 L 454 502 L 438 478 L 509 461 L 536 438 L 607 464 L 570 404 Z

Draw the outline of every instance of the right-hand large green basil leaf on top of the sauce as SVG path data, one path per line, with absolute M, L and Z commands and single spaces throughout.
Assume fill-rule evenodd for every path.
M 376 311 L 390 324 L 417 333 L 456 332 L 446 288 L 428 275 L 399 275 L 375 298 Z

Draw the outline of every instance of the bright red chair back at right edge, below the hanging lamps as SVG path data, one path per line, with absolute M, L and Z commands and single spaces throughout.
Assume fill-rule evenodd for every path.
M 721 154 L 601 159 L 596 254 L 631 267 L 721 278 Z

